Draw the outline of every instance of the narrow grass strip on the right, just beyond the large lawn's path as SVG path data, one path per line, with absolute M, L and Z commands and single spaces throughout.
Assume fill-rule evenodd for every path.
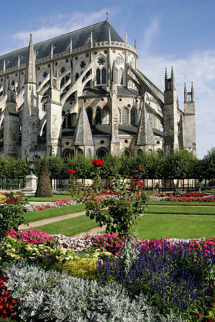
M 215 215 L 215 207 L 159 207 L 148 206 L 148 213 L 169 213 L 169 214 L 184 214 L 184 215 Z

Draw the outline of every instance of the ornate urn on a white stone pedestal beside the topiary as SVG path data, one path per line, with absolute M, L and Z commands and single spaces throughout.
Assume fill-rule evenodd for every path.
M 35 163 L 36 163 L 35 154 L 33 156 L 33 160 L 29 160 L 29 155 L 26 154 L 26 163 L 27 163 L 28 169 L 30 170 L 30 173 L 25 177 L 26 187 L 23 189 L 23 193 L 27 196 L 27 195 L 35 194 L 36 192 L 36 179 L 38 178 L 33 173 Z

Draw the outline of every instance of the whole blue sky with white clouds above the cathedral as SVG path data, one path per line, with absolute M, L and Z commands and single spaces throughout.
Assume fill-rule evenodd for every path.
M 197 154 L 215 146 L 215 27 L 213 0 L 10 1 L 1 3 L 1 54 L 106 20 L 125 39 L 137 41 L 138 68 L 164 90 L 173 66 L 183 109 L 183 90 L 194 85 Z

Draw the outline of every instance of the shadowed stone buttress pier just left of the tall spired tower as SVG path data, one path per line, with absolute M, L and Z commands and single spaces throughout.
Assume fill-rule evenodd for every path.
M 17 156 L 16 144 L 19 135 L 19 115 L 17 113 L 16 87 L 11 89 L 10 81 L 7 86 L 7 100 L 5 109 L 4 123 L 4 154 L 8 156 Z

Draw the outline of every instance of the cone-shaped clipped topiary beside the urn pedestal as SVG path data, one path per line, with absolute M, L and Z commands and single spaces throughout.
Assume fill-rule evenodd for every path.
M 51 187 L 51 183 L 48 175 L 48 168 L 47 168 L 45 157 L 40 171 L 35 197 L 53 197 L 52 187 Z

